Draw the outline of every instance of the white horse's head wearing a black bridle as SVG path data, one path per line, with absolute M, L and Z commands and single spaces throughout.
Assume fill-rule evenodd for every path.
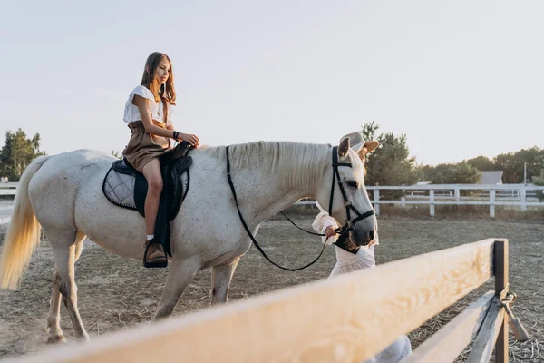
M 368 245 L 378 230 L 374 208 L 364 187 L 364 157 L 378 144 L 363 142 L 359 132 L 343 137 L 338 148 L 333 149 L 317 194 L 319 204 L 343 226 L 357 247 Z

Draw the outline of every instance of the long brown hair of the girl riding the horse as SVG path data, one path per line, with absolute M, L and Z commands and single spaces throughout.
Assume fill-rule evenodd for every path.
M 170 75 L 166 83 L 159 85 L 155 78 L 155 72 L 159 66 L 160 60 L 166 59 L 170 64 Z M 143 75 L 141 76 L 141 85 L 149 88 L 151 93 L 155 96 L 155 102 L 162 101 L 164 110 L 164 122 L 168 119 L 168 105 L 176 104 L 176 91 L 174 90 L 174 73 L 172 70 L 172 63 L 168 55 L 154 52 L 151 53 L 147 61 L 145 61 L 145 67 L 143 69 Z

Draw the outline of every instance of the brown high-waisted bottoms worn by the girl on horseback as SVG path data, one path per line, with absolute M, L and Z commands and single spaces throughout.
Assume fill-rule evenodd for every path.
M 163 127 L 162 125 L 158 125 Z M 143 167 L 154 158 L 160 157 L 165 152 L 170 151 L 170 138 L 150 135 L 145 132 L 141 121 L 129 123 L 132 135 L 129 144 L 122 151 L 122 156 L 138 172 L 142 172 Z

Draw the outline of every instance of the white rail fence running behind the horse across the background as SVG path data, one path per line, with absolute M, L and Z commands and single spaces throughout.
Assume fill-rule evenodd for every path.
M 18 182 L 0 182 L 1 195 L 15 195 Z M 435 184 L 408 186 L 367 186 L 376 214 L 380 214 L 381 204 L 393 204 L 401 207 L 409 205 L 429 205 L 429 214 L 435 215 L 437 205 L 487 205 L 490 217 L 495 218 L 496 206 L 520 207 L 527 211 L 528 207 L 544 207 L 538 194 L 544 193 L 544 186 L 532 184 Z M 380 191 L 383 191 L 382 195 Z M 397 191 L 396 199 L 383 198 L 387 191 Z M 298 201 L 297 204 L 314 204 L 315 201 Z M 1 208 L 0 208 L 1 209 Z M 4 210 L 7 211 L 6 208 Z M 6 212 L 0 214 L 5 214 Z

